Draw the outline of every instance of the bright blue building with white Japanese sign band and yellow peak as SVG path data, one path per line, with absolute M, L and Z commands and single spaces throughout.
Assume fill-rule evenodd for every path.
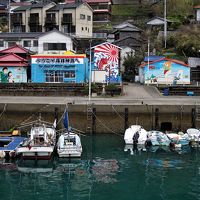
M 88 82 L 88 59 L 70 51 L 63 55 L 32 55 L 31 81 L 33 83 Z

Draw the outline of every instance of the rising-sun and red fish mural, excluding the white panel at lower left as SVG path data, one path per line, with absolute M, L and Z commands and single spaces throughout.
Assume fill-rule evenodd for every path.
M 96 46 L 94 48 L 94 69 L 105 71 L 106 82 L 119 82 L 119 48 L 110 43 Z

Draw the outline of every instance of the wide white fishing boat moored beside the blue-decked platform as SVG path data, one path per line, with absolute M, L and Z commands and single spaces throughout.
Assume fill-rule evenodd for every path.
M 17 154 L 23 159 L 50 159 L 56 145 L 55 126 L 39 119 L 31 124 L 28 135 Z

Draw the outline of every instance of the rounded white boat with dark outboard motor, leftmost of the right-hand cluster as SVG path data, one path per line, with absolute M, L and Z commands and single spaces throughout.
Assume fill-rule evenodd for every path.
M 126 144 L 144 145 L 147 140 L 147 131 L 140 125 L 132 125 L 126 129 L 124 134 L 124 141 Z

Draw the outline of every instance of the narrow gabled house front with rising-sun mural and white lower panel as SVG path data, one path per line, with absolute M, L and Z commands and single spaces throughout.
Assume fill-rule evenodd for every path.
M 93 62 L 92 62 L 93 82 L 120 83 L 121 48 L 109 42 L 104 42 L 102 44 L 92 47 L 92 50 L 93 50 Z

